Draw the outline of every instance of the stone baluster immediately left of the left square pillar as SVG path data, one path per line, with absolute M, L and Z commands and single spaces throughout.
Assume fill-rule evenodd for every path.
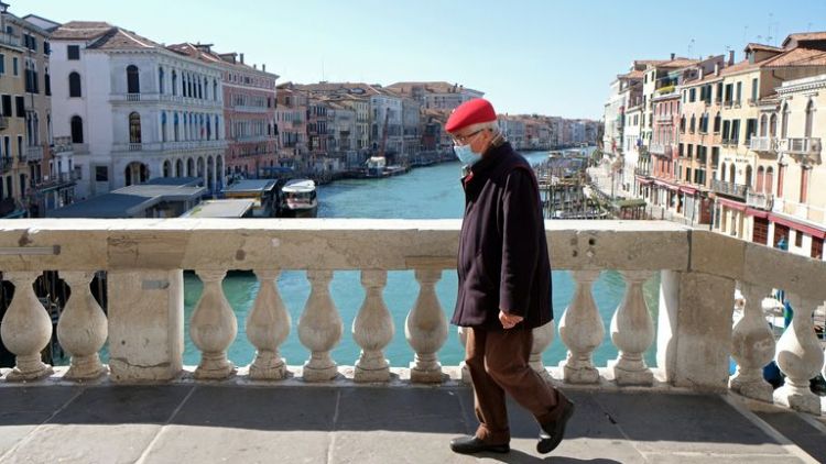
M 95 300 L 89 283 L 93 272 L 70 270 L 61 276 L 72 288 L 72 295 L 57 322 L 57 340 L 72 355 L 72 365 L 64 378 L 87 380 L 106 374 L 98 352 L 106 343 L 108 327 L 106 314 Z

